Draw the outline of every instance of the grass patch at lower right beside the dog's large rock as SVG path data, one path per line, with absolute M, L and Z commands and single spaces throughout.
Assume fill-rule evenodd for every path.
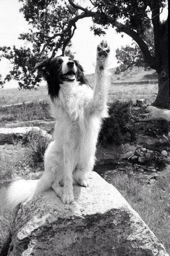
M 169 172 L 164 170 L 153 185 L 140 183 L 136 178 L 123 173 L 115 174 L 112 184 L 168 250 L 169 248 Z

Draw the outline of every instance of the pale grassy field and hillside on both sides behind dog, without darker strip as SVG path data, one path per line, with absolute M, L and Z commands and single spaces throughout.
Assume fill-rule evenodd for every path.
M 114 75 L 115 69 L 111 69 L 110 100 L 133 100 L 146 98 L 148 102 L 153 101 L 158 92 L 158 84 L 155 84 L 156 76 L 153 70 L 144 71 L 135 68 L 131 72 L 126 71 L 120 75 Z M 90 84 L 94 84 L 94 74 L 86 75 Z M 141 84 L 138 84 L 141 83 Z M 23 102 L 38 102 L 46 100 L 49 102 L 46 86 L 38 87 L 37 90 L 20 90 L 17 88 L 0 89 L 0 106 Z

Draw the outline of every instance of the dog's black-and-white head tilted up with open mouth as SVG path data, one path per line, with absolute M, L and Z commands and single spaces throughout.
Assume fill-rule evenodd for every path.
M 64 83 L 68 84 L 78 81 L 79 84 L 88 84 L 82 66 L 78 61 L 67 56 L 45 59 L 37 63 L 35 69 L 43 72 L 52 100 L 58 97 L 60 87 Z

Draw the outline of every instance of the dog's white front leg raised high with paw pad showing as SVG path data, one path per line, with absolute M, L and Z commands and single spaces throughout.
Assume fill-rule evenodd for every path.
M 106 75 L 106 65 L 110 49 L 106 41 L 97 46 L 95 68 L 94 94 L 90 104 L 90 112 L 98 116 L 107 116 L 107 91 L 109 81 Z

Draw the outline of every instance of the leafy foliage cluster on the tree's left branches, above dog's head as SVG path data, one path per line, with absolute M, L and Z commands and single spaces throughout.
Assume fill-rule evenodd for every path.
M 74 32 L 72 34 L 70 31 L 65 32 L 61 37 L 55 34 L 67 28 L 69 20 L 78 12 L 69 4 L 62 6 L 57 0 L 19 0 L 19 2 L 23 3 L 20 12 L 23 12 L 30 29 L 29 32 L 20 34 L 18 38 L 24 40 L 29 47 L 0 47 L 1 56 L 13 64 L 12 70 L 3 81 L 0 81 L 0 84 L 15 79 L 20 88 L 33 89 L 39 86 L 42 79 L 34 69 L 36 62 L 47 56 L 55 56 L 61 46 L 61 55 L 64 55 L 64 51 L 72 54 L 70 39 Z

